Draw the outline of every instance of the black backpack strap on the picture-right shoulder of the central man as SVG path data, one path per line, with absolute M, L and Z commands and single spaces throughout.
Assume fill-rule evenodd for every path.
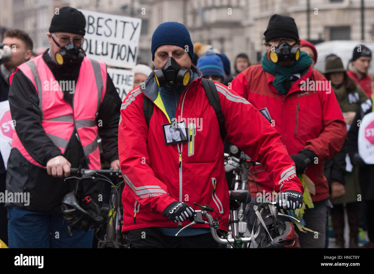
M 224 142 L 226 137 L 225 117 L 223 116 L 220 97 L 218 96 L 217 88 L 212 80 L 202 78 L 201 82 L 205 90 L 206 97 L 208 97 L 209 104 L 214 108 L 217 116 L 218 125 L 220 126 L 221 139 Z

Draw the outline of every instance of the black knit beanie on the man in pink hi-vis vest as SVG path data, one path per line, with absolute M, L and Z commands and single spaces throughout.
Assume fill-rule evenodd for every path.
M 50 22 L 49 32 L 69 32 L 85 35 L 86 19 L 83 13 L 73 7 L 62 7 Z

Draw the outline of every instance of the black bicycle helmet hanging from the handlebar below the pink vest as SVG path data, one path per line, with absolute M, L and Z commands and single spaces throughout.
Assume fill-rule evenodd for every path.
M 82 200 L 81 207 L 74 192 L 66 194 L 62 200 L 62 214 L 67 224 L 75 230 L 94 230 L 104 221 L 99 215 L 99 206 L 89 196 Z

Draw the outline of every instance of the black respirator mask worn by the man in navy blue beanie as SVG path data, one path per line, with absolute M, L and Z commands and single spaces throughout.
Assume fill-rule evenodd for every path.
M 177 85 L 186 86 L 191 78 L 190 70 L 181 67 L 173 57 L 169 57 L 163 67 L 153 73 L 157 85 L 169 86 L 173 89 Z

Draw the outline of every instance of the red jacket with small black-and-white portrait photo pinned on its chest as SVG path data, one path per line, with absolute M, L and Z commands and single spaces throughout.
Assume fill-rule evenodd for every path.
M 228 222 L 224 144 L 217 116 L 202 86 L 202 73 L 195 66 L 191 69 L 194 81 L 181 94 L 175 119 L 166 113 L 153 73 L 123 101 L 118 132 L 119 160 L 126 182 L 122 193 L 123 232 L 151 226 L 178 226 L 162 214 L 175 201 L 186 202 L 195 210 L 199 208 L 194 202 L 210 205 Z M 282 191 L 303 192 L 281 135 L 236 92 L 217 82 L 215 86 L 225 117 L 227 139 L 252 159 L 264 163 L 276 189 L 283 183 Z M 144 96 L 154 103 L 149 129 L 143 111 Z M 162 125 L 173 120 L 186 120 L 189 141 L 166 146 Z M 226 230 L 222 222 L 220 229 Z

